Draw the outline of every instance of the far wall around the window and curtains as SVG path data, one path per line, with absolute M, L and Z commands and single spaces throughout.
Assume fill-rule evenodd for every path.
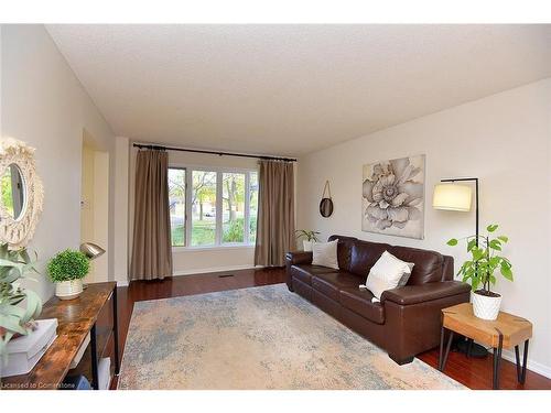
M 133 210 L 134 210 L 134 175 L 136 153 L 130 151 L 130 197 L 129 197 L 129 251 L 132 250 Z M 169 151 L 170 166 L 206 166 L 206 167 L 235 167 L 258 169 L 255 159 L 236 156 L 215 156 L 207 154 Z M 131 256 L 131 252 L 130 252 Z M 174 248 L 173 269 L 174 275 L 196 274 L 201 272 L 237 270 L 255 267 L 255 247 L 212 247 L 212 248 Z

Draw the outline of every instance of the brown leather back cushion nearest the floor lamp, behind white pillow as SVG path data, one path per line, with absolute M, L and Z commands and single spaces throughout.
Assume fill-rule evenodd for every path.
M 389 247 L 388 252 L 402 261 L 415 264 L 407 285 L 420 285 L 442 280 L 444 257 L 440 252 L 410 247 Z

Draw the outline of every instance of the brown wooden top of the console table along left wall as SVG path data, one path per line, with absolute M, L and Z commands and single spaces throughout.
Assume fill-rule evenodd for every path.
M 57 338 L 34 369 L 26 374 L 2 378 L 0 389 L 58 389 L 71 362 L 116 287 L 116 282 L 88 284 L 75 300 L 52 297 L 44 305 L 39 319 L 57 318 Z

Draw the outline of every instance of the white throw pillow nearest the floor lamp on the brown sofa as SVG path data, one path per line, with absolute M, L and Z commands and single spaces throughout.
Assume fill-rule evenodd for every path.
M 413 263 L 399 260 L 390 252 L 385 251 L 371 267 L 369 275 L 367 275 L 366 286 L 376 298 L 380 300 L 383 291 L 407 284 L 413 265 Z

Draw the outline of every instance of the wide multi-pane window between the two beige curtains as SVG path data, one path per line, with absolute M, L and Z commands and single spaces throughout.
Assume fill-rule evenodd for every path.
M 171 167 L 169 198 L 173 247 L 255 243 L 257 172 Z

